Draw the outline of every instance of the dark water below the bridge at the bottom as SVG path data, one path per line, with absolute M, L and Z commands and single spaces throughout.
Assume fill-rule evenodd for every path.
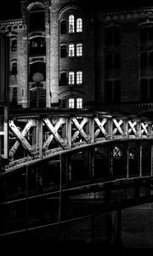
M 74 253 L 152 253 L 153 252 L 153 204 L 122 210 L 122 247 L 111 247 L 108 243 L 105 214 L 60 224 L 42 230 L 31 230 L 1 238 L 5 247 L 56 248 L 63 252 L 69 248 Z M 46 254 L 45 254 L 46 255 Z M 71 254 L 72 255 L 72 254 Z M 94 254 L 97 255 L 97 254 Z M 105 255 L 105 254 L 102 254 Z

